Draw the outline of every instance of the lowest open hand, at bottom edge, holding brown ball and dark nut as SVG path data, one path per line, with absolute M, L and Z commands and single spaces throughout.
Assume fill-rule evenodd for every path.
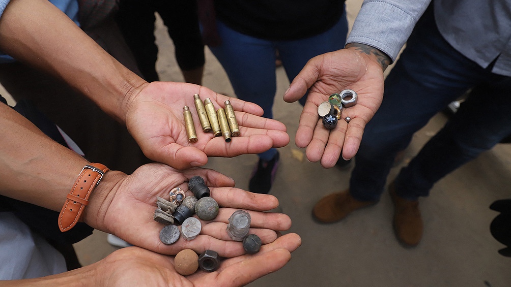
M 198 270 L 186 277 L 176 272 L 172 256 L 138 247 L 117 250 L 85 268 L 95 270 L 91 278 L 97 286 L 242 286 L 281 269 L 300 244 L 297 234 L 286 234 L 257 254 L 224 259 L 214 272 Z

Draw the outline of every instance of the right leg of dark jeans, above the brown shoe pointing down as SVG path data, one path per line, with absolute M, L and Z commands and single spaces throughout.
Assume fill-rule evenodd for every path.
M 396 179 L 400 196 L 428 196 L 436 181 L 511 133 L 511 78 L 490 78 L 472 90 L 453 118 L 401 170 Z

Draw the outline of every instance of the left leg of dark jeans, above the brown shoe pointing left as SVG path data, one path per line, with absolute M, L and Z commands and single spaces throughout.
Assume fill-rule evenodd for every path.
M 352 195 L 379 200 L 397 152 L 438 111 L 480 82 L 483 73 L 444 40 L 428 10 L 385 81 L 380 109 L 365 127 L 350 179 Z

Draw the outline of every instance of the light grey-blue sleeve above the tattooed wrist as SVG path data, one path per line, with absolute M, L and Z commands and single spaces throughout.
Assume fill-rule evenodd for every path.
M 392 62 L 431 0 L 364 0 L 346 43 L 376 47 Z

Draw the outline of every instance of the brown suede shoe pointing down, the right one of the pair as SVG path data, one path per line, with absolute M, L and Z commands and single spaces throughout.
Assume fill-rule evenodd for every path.
M 389 193 L 394 203 L 394 231 L 398 240 L 407 247 L 415 247 L 422 238 L 423 223 L 419 200 L 406 200 L 396 194 L 394 182 L 389 185 Z

